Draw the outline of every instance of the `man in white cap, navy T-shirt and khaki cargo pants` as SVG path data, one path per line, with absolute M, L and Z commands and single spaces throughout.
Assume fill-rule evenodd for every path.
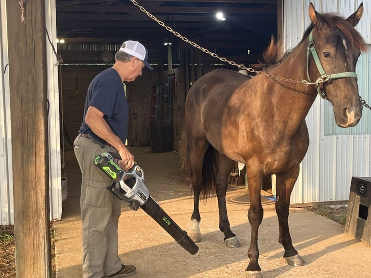
M 124 170 L 134 165 L 134 156 L 125 146 L 128 104 L 123 82 L 134 81 L 148 63 L 147 49 L 136 41 L 126 41 L 115 55 L 111 68 L 98 74 L 86 95 L 84 117 L 74 151 L 82 172 L 82 272 L 84 278 L 122 278 L 136 273 L 134 265 L 124 265 L 118 256 L 118 222 L 121 201 L 107 190 L 112 180 L 94 164 L 103 152 L 120 154 Z

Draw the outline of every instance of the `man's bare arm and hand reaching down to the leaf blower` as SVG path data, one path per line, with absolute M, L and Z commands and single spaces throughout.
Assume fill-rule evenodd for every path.
M 89 106 L 85 115 L 85 123 L 97 136 L 111 144 L 119 152 L 121 156 L 119 165 L 124 170 L 128 170 L 134 165 L 134 156 L 126 148 L 124 142 L 112 132 L 103 116 L 104 114 L 99 109 Z

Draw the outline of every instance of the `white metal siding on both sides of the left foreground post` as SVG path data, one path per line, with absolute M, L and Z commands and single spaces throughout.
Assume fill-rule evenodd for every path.
M 55 1 L 45 0 L 46 29 L 56 40 Z M 0 1 L 0 225 L 14 224 L 12 134 L 10 120 L 6 1 Z M 55 46 L 56 48 L 56 46 Z M 49 100 L 49 185 L 50 219 L 62 216 L 61 147 L 57 58 L 47 41 L 47 89 Z M 5 73 L 4 73 L 5 71 Z

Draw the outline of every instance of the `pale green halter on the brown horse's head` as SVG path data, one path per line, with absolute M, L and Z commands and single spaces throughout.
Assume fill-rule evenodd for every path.
M 342 73 L 336 73 L 336 74 L 330 74 L 330 75 L 326 74 L 326 72 L 325 72 L 325 70 L 324 70 L 324 68 L 321 64 L 320 58 L 318 57 L 317 51 L 314 48 L 315 44 L 313 42 L 312 32 L 313 32 L 313 30 L 309 34 L 309 44 L 308 44 L 308 47 L 307 47 L 307 77 L 308 77 L 309 82 L 302 81 L 302 83 L 304 83 L 306 85 L 316 84 L 317 85 L 317 93 L 323 99 L 327 99 L 325 91 L 321 90 L 321 88 L 320 88 L 321 83 L 330 81 L 331 79 L 343 78 L 343 77 L 356 77 L 357 78 L 357 74 L 355 72 L 342 72 Z M 314 82 L 314 83 L 310 83 L 311 80 L 310 80 L 310 77 L 309 77 L 309 56 L 310 56 L 310 53 L 312 54 L 314 62 L 316 62 L 316 65 L 317 65 L 317 69 L 321 74 L 321 77 L 319 77 L 317 79 L 317 81 Z

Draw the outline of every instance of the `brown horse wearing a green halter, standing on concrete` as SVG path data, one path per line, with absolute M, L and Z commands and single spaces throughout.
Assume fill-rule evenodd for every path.
M 305 117 L 320 94 L 333 105 L 338 126 L 359 122 L 362 106 L 355 71 L 367 45 L 354 27 L 362 14 L 362 3 L 346 19 L 319 14 L 310 3 L 310 26 L 300 43 L 282 58 L 278 59 L 277 43 L 272 40 L 263 55 L 269 62 L 262 63 L 253 78 L 215 69 L 200 77 L 187 93 L 181 154 L 194 193 L 189 236 L 194 242 L 201 240 L 200 196 L 207 198 L 216 191 L 225 244 L 240 246 L 230 228 L 225 197 L 235 162 L 246 164 L 251 229 L 247 277 L 263 277 L 258 263 L 258 229 L 263 220 L 260 189 L 270 174 L 277 177 L 275 208 L 283 258 L 292 266 L 305 263 L 292 244 L 288 224 L 290 195 L 309 146 Z

